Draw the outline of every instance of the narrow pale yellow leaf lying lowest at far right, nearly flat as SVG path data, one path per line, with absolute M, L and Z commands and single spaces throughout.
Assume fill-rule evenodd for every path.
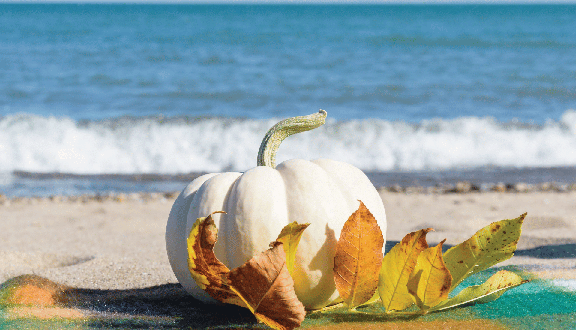
M 484 302 L 495 301 L 507 290 L 528 282 L 530 282 L 530 280 L 524 280 L 513 272 L 502 270 L 490 276 L 482 285 L 469 286 L 460 291 L 456 297 L 442 301 L 430 309 L 430 312 L 463 304 L 482 304 Z

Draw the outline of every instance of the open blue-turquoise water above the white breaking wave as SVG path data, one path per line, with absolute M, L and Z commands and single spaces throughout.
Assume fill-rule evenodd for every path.
M 0 5 L 0 104 L 417 123 L 576 107 L 574 5 Z

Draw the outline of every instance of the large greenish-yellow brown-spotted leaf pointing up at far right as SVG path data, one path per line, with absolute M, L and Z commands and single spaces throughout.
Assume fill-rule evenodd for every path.
M 468 240 L 444 253 L 444 263 L 453 278 L 450 291 L 468 276 L 510 259 L 514 255 L 526 214 L 516 219 L 492 222 L 478 230 Z

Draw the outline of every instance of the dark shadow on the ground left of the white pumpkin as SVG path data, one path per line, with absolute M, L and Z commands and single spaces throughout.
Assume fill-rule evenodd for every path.
M 248 309 L 204 304 L 179 283 L 131 290 L 66 289 L 64 294 L 69 297 L 66 307 L 80 308 L 89 314 L 90 327 L 263 328 Z

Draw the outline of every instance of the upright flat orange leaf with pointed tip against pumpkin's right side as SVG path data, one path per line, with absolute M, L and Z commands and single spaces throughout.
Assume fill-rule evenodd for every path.
M 348 309 L 373 297 L 378 287 L 384 237 L 362 201 L 344 223 L 334 256 L 334 280 Z

